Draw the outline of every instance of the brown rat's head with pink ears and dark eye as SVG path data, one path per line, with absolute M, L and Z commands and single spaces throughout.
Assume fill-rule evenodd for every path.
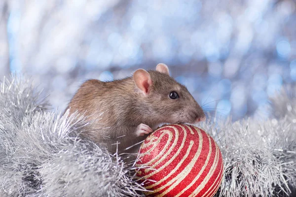
M 157 123 L 190 123 L 204 121 L 206 116 L 187 88 L 170 76 L 168 66 L 156 70 L 138 69 L 133 74 L 141 108 Z

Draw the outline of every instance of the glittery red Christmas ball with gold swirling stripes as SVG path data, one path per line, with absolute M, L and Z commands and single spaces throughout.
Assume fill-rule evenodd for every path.
M 191 125 L 162 127 L 142 143 L 137 176 L 151 197 L 213 197 L 223 175 L 220 149 Z M 148 168 L 141 168 L 149 166 Z

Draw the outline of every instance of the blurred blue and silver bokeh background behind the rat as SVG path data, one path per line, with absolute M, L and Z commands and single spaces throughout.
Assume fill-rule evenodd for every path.
M 296 0 L 1 0 L 0 63 L 61 111 L 86 79 L 165 63 L 206 111 L 237 120 L 296 81 Z

